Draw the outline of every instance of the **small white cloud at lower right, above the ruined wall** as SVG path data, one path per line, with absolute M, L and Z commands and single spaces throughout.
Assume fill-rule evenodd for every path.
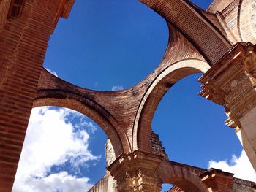
M 227 160 L 225 161 L 209 161 L 208 167 L 215 169 L 222 169 L 224 172 L 234 173 L 234 177 L 256 181 L 256 173 L 252 167 L 252 164 L 249 161 L 244 150 L 242 150 L 240 157 L 233 155 L 228 164 Z

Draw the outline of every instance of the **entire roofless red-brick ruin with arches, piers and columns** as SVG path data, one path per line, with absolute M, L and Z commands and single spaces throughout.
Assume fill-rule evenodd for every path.
M 200 96 L 225 107 L 256 169 L 256 1 L 215 0 L 202 10 L 188 0 L 140 0 L 165 18 L 169 42 L 145 80 L 125 91 L 91 91 L 43 67 L 50 35 L 75 0 L 0 0 L 0 192 L 10 192 L 32 107 L 68 107 L 108 135 L 108 171 L 91 191 L 255 191 L 255 183 L 217 169 L 169 161 L 151 131 L 168 89 L 203 72 Z M 210 102 L 210 101 L 209 101 Z

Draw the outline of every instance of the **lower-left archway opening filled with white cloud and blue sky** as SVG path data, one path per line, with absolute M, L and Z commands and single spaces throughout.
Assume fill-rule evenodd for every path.
M 88 191 L 105 175 L 106 140 L 79 112 L 34 108 L 12 191 Z

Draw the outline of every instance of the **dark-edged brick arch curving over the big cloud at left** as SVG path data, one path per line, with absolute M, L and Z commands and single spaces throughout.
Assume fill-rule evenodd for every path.
M 105 110 L 104 107 L 91 99 L 90 95 L 79 93 L 79 91 L 74 88 L 76 87 L 75 85 L 71 85 L 68 82 L 54 77 L 53 74 L 46 72 L 44 69 L 40 82 L 47 81 L 45 78 L 48 79 L 48 82 L 46 82 L 48 85 L 44 85 L 45 88 L 37 89 L 37 96 L 34 99 L 33 107 L 58 106 L 78 111 L 94 120 L 94 122 L 105 131 L 105 134 L 107 134 L 113 144 L 116 157 L 122 153 L 129 152 L 130 147 L 127 135 L 124 133 L 121 126 L 118 125 L 116 119 Z M 50 85 L 53 83 L 50 78 L 53 78 L 55 83 L 57 80 L 58 85 L 63 84 L 63 88 L 54 88 L 53 85 Z M 40 86 L 42 85 L 39 85 L 39 87 Z

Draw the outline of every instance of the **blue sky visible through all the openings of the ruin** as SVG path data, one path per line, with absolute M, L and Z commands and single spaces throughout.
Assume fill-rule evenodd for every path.
M 203 9 L 211 3 L 193 2 Z M 167 39 L 165 20 L 138 0 L 76 0 L 68 20 L 59 20 L 50 38 L 44 66 L 61 79 L 83 88 L 108 91 L 115 86 L 129 88 L 157 67 Z M 186 77 L 167 92 L 154 115 L 152 128 L 159 134 L 170 160 L 203 168 L 208 168 L 209 161 L 216 161 L 234 170 L 230 167 L 238 162 L 236 159 L 240 160 L 242 147 L 234 130 L 225 126 L 224 108 L 197 96 L 198 77 L 200 74 Z M 48 113 L 54 115 L 49 117 Z M 45 190 L 51 177 L 82 178 L 78 182 L 80 187 L 83 183 L 89 183 L 84 185 L 88 188 L 97 183 L 105 174 L 105 133 L 89 118 L 70 110 L 46 107 L 34 110 L 34 114 L 37 120 L 31 120 L 31 127 L 36 125 L 45 130 L 43 118 L 56 122 L 57 127 L 62 123 L 72 129 L 72 132 L 64 129 L 70 146 L 78 145 L 86 155 L 67 146 L 59 158 L 45 158 L 49 163 L 44 168 L 43 164 L 38 165 L 42 172 L 28 173 L 39 183 L 33 184 L 33 189 Z M 55 120 L 51 119 L 54 117 Z M 26 139 L 34 143 L 29 136 Z M 61 141 L 53 139 L 52 145 L 59 146 Z M 26 152 L 23 153 L 26 159 Z M 30 184 L 26 181 L 26 185 Z M 58 188 L 48 188 L 49 192 L 61 191 L 60 184 L 54 185 Z M 67 188 L 63 191 L 68 191 Z

